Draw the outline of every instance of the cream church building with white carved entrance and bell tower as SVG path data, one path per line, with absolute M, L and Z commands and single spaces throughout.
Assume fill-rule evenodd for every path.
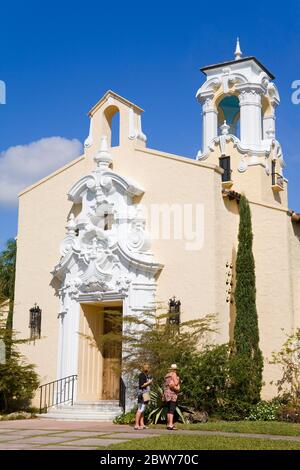
M 276 393 L 271 354 L 300 327 L 300 215 L 276 139 L 279 93 L 239 43 L 233 60 L 201 71 L 195 158 L 148 148 L 142 108 L 108 91 L 89 112 L 83 155 L 19 195 L 14 328 L 31 338 L 22 352 L 44 385 L 35 404 L 63 403 L 49 416 L 111 419 L 129 407 L 122 351 L 99 342 L 112 309 L 144 315 L 175 296 L 181 321 L 215 314 L 215 341 L 232 339 L 241 194 L 252 213 L 262 395 Z

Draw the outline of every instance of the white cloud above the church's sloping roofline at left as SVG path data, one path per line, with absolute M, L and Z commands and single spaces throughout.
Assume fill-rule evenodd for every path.
M 46 137 L 0 152 L 0 204 L 16 205 L 17 194 L 82 153 L 77 139 Z

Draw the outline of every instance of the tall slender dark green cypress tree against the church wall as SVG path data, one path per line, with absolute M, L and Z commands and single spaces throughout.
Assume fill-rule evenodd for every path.
M 236 398 L 251 404 L 260 399 L 263 357 L 259 349 L 251 211 L 245 196 L 241 196 L 239 210 L 232 372 Z

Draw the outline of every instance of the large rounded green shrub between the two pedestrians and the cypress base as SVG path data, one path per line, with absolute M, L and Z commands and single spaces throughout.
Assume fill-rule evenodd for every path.
M 249 374 L 255 367 L 252 359 L 231 355 L 227 344 L 206 346 L 180 366 L 181 400 L 223 420 L 245 419 L 253 402 L 241 397 L 249 398 Z

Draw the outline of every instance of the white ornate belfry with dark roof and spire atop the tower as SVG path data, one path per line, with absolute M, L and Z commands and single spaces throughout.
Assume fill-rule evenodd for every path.
M 199 159 L 208 157 L 226 121 L 229 135 L 248 156 L 270 151 L 275 139 L 275 109 L 279 94 L 275 78 L 255 57 L 243 57 L 237 39 L 233 60 L 201 68 L 206 81 L 196 97 L 203 111 L 203 148 Z

